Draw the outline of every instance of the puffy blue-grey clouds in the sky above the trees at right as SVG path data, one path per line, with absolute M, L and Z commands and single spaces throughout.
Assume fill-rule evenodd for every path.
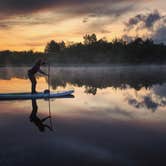
M 140 37 L 152 38 L 156 43 L 166 43 L 166 15 L 154 10 L 150 13 L 137 14 L 131 17 L 125 23 L 123 39 L 129 41 L 134 37 L 129 36 L 129 32 L 135 31 L 138 33 L 142 30 L 146 30 L 147 33 L 142 36 L 139 35 Z

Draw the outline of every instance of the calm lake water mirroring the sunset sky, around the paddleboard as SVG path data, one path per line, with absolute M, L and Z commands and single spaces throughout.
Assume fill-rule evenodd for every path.
M 27 69 L 0 68 L 1 93 L 29 92 Z M 75 98 L 51 99 L 53 131 L 32 120 L 33 101 L 0 101 L 0 166 L 166 165 L 166 66 L 52 67 L 51 90 L 64 89 Z

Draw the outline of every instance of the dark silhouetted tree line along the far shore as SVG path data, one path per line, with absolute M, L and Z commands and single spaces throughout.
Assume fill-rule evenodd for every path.
M 28 65 L 40 57 L 54 64 L 150 64 L 166 63 L 166 46 L 152 39 L 136 38 L 130 42 L 106 38 L 95 34 L 83 36 L 83 43 L 65 43 L 54 40 L 47 43 L 44 52 L 1 51 L 0 65 Z

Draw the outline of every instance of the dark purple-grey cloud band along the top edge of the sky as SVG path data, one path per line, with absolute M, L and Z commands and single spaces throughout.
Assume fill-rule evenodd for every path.
M 43 10 L 68 14 L 120 15 L 130 10 L 136 0 L 6 0 L 0 3 L 0 18 L 26 15 Z M 143 1 L 143 0 L 141 0 Z

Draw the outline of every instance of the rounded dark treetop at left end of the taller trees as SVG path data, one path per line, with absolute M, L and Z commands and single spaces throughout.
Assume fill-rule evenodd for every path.
M 45 53 L 57 53 L 60 51 L 60 45 L 56 43 L 54 40 L 51 40 L 47 43 L 45 47 Z

